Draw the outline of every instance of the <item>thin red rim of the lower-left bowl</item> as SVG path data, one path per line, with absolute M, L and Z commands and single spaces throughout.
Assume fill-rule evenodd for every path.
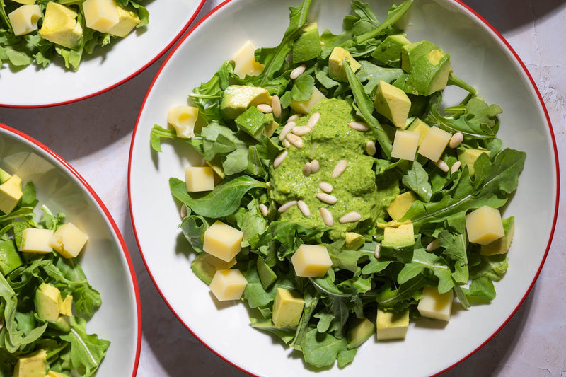
M 8 132 L 11 132 L 12 134 L 16 134 L 16 135 L 18 135 L 18 137 L 21 137 L 22 139 L 30 141 L 31 143 L 35 144 L 40 149 L 45 151 L 45 153 L 52 156 L 62 166 L 64 166 L 69 171 L 69 173 L 74 175 L 74 177 L 81 182 L 83 187 L 86 188 L 86 190 L 90 193 L 91 197 L 93 197 L 93 199 L 95 199 L 95 201 L 97 202 L 100 209 L 102 209 L 102 211 L 104 212 L 106 219 L 108 219 L 108 221 L 110 222 L 110 225 L 112 225 L 112 229 L 113 229 L 116 237 L 118 238 L 118 240 L 120 240 L 120 247 L 122 248 L 122 252 L 124 253 L 124 256 L 126 257 L 127 266 L 128 266 L 128 269 L 129 269 L 130 277 L 132 277 L 132 284 L 134 286 L 134 293 L 135 293 L 135 298 L 136 298 L 136 312 L 137 312 L 137 320 L 138 320 L 137 321 L 137 341 L 136 341 L 136 356 L 135 356 L 135 361 L 134 361 L 134 369 L 132 370 L 132 377 L 135 377 L 137 375 L 137 369 L 138 369 L 138 365 L 139 365 L 139 354 L 141 352 L 141 301 L 140 301 L 140 298 L 139 298 L 139 287 L 138 287 L 138 284 L 137 284 L 137 278 L 136 278 L 136 273 L 135 273 L 135 270 L 134 270 L 134 264 L 132 263 L 132 258 L 129 255 L 129 251 L 128 251 L 127 246 L 126 246 L 126 242 L 125 242 L 124 238 L 122 237 L 122 233 L 120 233 L 120 229 L 118 228 L 114 219 L 112 218 L 110 211 L 108 211 L 108 209 L 106 208 L 106 206 L 102 202 L 102 199 L 100 199 L 100 197 L 98 197 L 98 195 L 93 190 L 91 185 L 88 185 L 88 182 L 86 182 L 86 180 L 71 165 L 69 165 L 69 163 L 67 163 L 67 161 L 65 161 L 61 156 L 59 156 L 57 153 L 52 151 L 48 146 L 45 146 L 44 144 L 40 143 L 40 141 L 33 139 L 33 137 L 30 137 L 27 134 L 24 134 L 23 132 L 18 131 L 17 129 L 14 129 L 10 126 L 7 126 L 6 124 L 3 124 L 3 123 L 0 123 L 0 128 L 6 129 L 6 131 L 8 131 Z

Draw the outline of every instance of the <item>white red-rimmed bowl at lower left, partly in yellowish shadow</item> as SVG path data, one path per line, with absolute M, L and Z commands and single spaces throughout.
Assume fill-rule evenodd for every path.
M 61 157 L 26 134 L 0 124 L 0 167 L 32 181 L 37 199 L 85 231 L 79 256 L 102 306 L 86 324 L 89 334 L 110 340 L 97 376 L 137 373 L 141 349 L 141 306 L 134 266 L 110 212 L 88 183 Z

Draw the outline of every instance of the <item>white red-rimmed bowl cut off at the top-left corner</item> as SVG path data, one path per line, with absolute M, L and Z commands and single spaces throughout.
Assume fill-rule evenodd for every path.
M 177 42 L 204 1 L 146 1 L 149 25 L 134 29 L 123 39 L 115 38 L 112 45 L 98 47 L 91 55 L 84 54 L 76 72 L 65 69 L 59 56 L 46 69 L 32 64 L 13 71 L 4 64 L 0 69 L 0 107 L 63 105 L 132 79 Z

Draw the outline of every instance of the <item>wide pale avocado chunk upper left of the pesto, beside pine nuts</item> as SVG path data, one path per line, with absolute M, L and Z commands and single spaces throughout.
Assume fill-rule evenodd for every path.
M 259 86 L 231 85 L 222 93 L 220 112 L 224 117 L 236 119 L 247 108 L 260 103 L 271 104 L 271 95 L 267 89 Z

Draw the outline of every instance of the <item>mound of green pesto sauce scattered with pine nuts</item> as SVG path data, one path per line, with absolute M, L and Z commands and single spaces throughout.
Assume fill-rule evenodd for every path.
M 371 132 L 355 131 L 348 126 L 356 120 L 350 103 L 335 98 L 322 100 L 308 115 L 297 119 L 296 125 L 306 125 L 315 112 L 320 113 L 320 120 L 312 132 L 302 137 L 304 146 L 301 149 L 290 146 L 281 165 L 275 169 L 271 167 L 270 180 L 270 193 L 277 203 L 303 200 L 311 215 L 304 216 L 297 206 L 293 206 L 279 214 L 279 219 L 294 221 L 308 228 L 325 226 L 318 212 L 324 207 L 334 218 L 330 238 L 344 238 L 347 231 L 364 234 L 374 228 L 377 221 L 384 221 L 387 207 L 399 194 L 398 182 L 387 187 L 376 185 L 375 158 L 365 153 L 367 141 L 374 140 L 374 137 Z M 320 170 L 305 176 L 303 168 L 313 159 L 318 160 Z M 342 175 L 332 178 L 332 171 L 340 160 L 347 161 L 347 168 Z M 333 185 L 330 195 L 337 197 L 335 204 L 326 204 L 316 197 L 318 192 L 323 192 L 318 187 L 320 182 Z M 340 224 L 340 217 L 351 211 L 361 214 L 362 219 Z

